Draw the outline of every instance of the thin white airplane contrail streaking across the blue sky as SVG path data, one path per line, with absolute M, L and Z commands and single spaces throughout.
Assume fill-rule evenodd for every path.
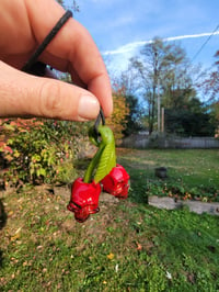
M 214 35 L 219 35 L 219 31 L 211 32 L 211 33 L 199 33 L 199 34 L 186 34 L 186 35 L 178 35 L 178 36 L 170 36 L 162 38 L 164 42 L 172 42 L 172 41 L 178 41 L 178 40 L 185 40 L 185 38 L 197 38 L 197 37 L 205 37 L 205 36 L 214 36 Z M 107 56 L 107 55 L 116 55 L 116 54 L 124 54 L 134 50 L 135 48 L 143 45 L 148 45 L 153 43 L 153 40 L 150 41 L 141 41 L 141 42 L 134 42 L 129 43 L 127 45 L 120 46 L 116 49 L 113 50 L 105 50 L 102 54 Z

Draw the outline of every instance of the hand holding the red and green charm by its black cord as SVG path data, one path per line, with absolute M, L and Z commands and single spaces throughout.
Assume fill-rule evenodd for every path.
M 81 24 L 68 20 L 38 59 L 69 72 L 74 86 L 19 70 L 65 10 L 55 0 L 1 0 L 0 8 L 0 116 L 84 121 L 95 119 L 100 105 L 112 113 L 104 63 Z

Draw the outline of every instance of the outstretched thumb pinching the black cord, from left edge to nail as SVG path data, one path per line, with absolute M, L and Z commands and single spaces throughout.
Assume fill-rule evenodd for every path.
M 0 61 L 0 116 L 87 121 L 97 116 L 95 96 L 79 87 L 27 75 Z

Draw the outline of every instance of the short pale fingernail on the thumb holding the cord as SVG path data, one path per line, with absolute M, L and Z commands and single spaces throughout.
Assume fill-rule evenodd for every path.
M 100 111 L 100 103 L 93 96 L 82 96 L 79 100 L 78 114 L 81 119 L 95 119 Z

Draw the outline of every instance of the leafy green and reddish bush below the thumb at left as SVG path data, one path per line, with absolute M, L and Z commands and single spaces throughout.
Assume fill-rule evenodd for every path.
M 77 141 L 87 128 L 85 124 L 70 122 L 1 120 L 4 180 L 13 184 L 71 181 Z

